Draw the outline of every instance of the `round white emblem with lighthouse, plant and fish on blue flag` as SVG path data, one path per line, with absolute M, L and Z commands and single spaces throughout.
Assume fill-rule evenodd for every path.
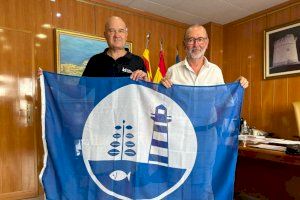
M 89 175 L 105 193 L 119 199 L 162 199 L 190 175 L 197 137 L 175 101 L 131 84 L 107 95 L 91 111 L 83 130 L 82 153 Z M 117 191 L 118 186 L 132 187 L 133 192 Z M 147 194 L 134 194 L 139 188 Z

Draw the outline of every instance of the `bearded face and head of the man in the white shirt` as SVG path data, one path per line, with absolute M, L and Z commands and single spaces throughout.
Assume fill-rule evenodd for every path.
M 187 30 L 184 46 L 187 57 L 192 59 L 202 58 L 208 46 L 208 38 L 202 27 L 193 27 Z

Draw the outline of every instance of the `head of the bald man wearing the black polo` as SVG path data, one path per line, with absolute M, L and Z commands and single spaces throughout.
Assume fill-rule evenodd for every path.
M 128 33 L 121 19 L 111 19 L 105 28 L 104 35 L 110 48 L 124 49 Z

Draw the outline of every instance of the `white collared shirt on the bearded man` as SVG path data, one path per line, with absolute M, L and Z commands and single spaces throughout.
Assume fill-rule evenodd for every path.
M 195 74 L 186 59 L 169 67 L 166 77 L 169 77 L 174 84 L 192 86 L 211 86 L 224 84 L 221 69 L 209 62 L 204 57 L 204 65 L 200 72 Z

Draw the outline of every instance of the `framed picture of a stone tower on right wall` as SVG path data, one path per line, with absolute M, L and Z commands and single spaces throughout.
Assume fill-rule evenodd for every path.
M 300 21 L 264 31 L 264 79 L 300 73 Z

